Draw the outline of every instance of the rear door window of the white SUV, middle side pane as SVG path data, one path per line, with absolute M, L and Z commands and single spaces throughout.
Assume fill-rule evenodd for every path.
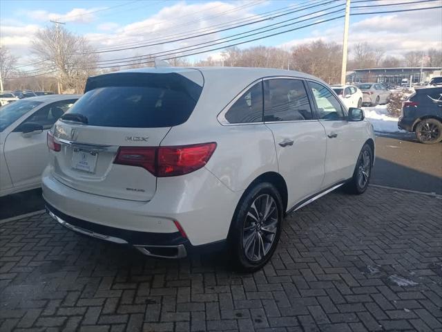
M 265 81 L 264 121 L 311 120 L 309 98 L 301 80 Z

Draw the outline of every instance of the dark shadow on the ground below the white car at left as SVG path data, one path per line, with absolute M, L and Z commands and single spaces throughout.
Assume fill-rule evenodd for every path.
M 43 209 L 41 189 L 0 197 L 0 220 Z

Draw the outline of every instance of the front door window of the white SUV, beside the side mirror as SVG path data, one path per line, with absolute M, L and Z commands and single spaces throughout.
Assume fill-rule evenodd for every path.
M 343 108 L 329 89 L 316 82 L 309 82 L 309 86 L 316 100 L 319 119 L 342 120 L 345 118 Z

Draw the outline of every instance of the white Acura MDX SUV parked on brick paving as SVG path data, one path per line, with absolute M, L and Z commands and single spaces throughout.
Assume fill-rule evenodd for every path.
M 48 133 L 52 218 L 145 255 L 273 254 L 284 216 L 340 185 L 361 194 L 374 133 L 316 77 L 264 68 L 146 68 L 90 77 Z

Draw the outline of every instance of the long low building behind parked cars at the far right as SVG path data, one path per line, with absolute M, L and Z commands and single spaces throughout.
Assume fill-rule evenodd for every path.
M 401 84 L 410 82 L 411 77 L 412 83 L 419 83 L 428 82 L 434 76 L 442 76 L 442 67 L 363 68 L 347 72 L 347 82 Z

